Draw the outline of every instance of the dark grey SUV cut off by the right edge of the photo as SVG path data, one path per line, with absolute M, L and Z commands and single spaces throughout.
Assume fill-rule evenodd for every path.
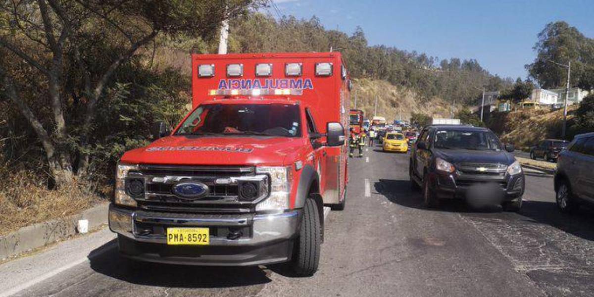
M 555 170 L 559 210 L 568 213 L 580 203 L 594 204 L 594 132 L 576 135 L 561 152 Z

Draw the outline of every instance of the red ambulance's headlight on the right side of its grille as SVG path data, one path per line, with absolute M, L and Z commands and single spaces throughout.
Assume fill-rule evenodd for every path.
M 293 179 L 290 167 L 258 167 L 257 173 L 270 175 L 270 196 L 256 204 L 256 211 L 285 210 L 289 208 L 289 195 Z

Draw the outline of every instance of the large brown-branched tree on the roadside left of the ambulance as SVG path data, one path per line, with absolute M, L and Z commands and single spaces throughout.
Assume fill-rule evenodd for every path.
M 42 144 L 56 184 L 86 173 L 97 105 L 116 69 L 157 34 L 207 38 L 224 18 L 263 2 L 0 0 L 0 54 L 8 57 L 0 80 Z

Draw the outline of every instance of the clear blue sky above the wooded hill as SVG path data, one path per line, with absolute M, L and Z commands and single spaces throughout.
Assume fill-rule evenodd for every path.
M 538 34 L 567 21 L 594 37 L 594 0 L 364 1 L 274 0 L 282 14 L 316 15 L 326 29 L 365 31 L 369 45 L 425 52 L 440 59 L 476 59 L 492 74 L 526 77 Z M 276 16 L 274 8 L 268 11 Z

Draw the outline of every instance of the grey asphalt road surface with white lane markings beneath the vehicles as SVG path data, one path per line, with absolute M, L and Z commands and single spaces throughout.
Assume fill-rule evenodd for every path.
M 64 244 L 84 249 L 94 242 L 89 261 L 72 263 L 68 251 L 55 247 L 0 265 L 0 279 L 11 276 L 17 286 L 31 279 L 27 271 L 63 261 L 71 264 L 17 295 L 592 296 L 593 212 L 558 213 L 551 176 L 528 173 L 520 213 L 463 203 L 428 210 L 410 189 L 407 158 L 370 149 L 351 159 L 346 210 L 327 217 L 313 277 L 292 277 L 280 265 L 134 264 L 118 257 L 113 236 L 103 230 Z M 10 286 L 0 282 L 0 289 Z

